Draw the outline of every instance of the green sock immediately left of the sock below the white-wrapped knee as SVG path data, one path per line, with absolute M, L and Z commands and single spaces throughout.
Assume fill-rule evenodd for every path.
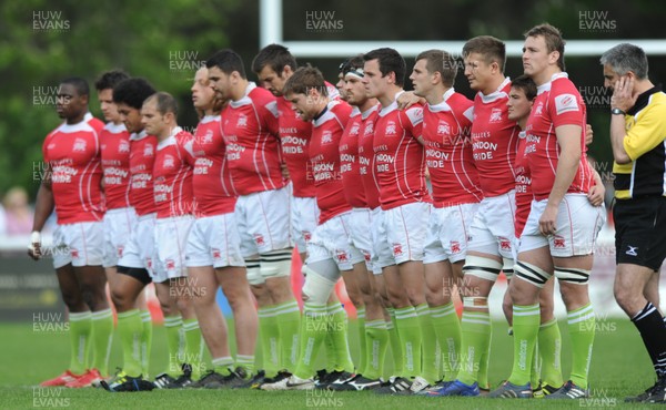
M 295 299 L 275 306 L 275 321 L 280 329 L 280 369 L 293 372 L 299 360 L 301 327 L 301 310 Z

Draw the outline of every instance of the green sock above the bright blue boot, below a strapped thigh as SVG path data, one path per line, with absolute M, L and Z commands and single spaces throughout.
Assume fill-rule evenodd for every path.
M 491 316 L 485 311 L 463 310 L 461 355 L 457 379 L 465 385 L 478 381 L 478 370 L 491 345 Z

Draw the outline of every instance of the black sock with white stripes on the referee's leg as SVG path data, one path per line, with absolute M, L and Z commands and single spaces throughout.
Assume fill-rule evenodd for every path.
M 632 321 L 643 338 L 657 377 L 666 376 L 666 326 L 664 325 L 664 317 L 648 301 L 643 310 L 632 318 Z

